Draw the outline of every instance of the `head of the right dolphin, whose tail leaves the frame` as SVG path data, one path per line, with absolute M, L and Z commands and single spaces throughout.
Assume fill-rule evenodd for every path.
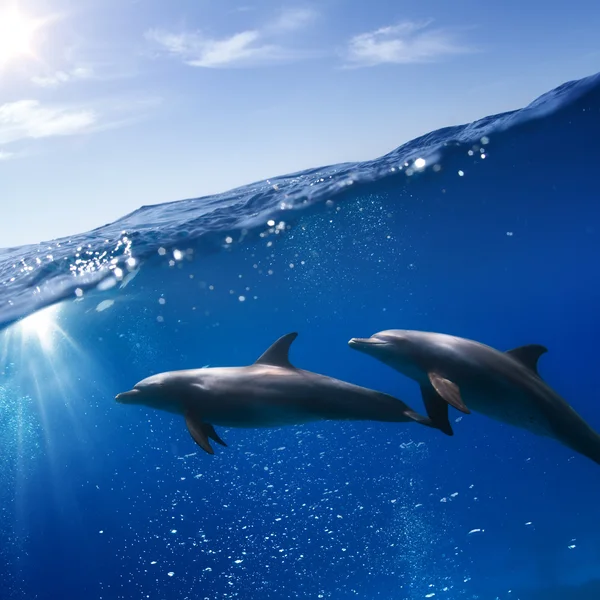
M 350 348 L 369 354 L 411 379 L 422 378 L 431 352 L 421 332 L 388 329 L 370 338 L 352 338 Z

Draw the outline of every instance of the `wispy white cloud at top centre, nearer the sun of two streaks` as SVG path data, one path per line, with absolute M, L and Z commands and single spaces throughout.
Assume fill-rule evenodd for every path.
M 315 18 L 309 9 L 284 11 L 264 27 L 248 29 L 221 38 L 200 31 L 173 33 L 161 29 L 147 31 L 147 40 L 192 67 L 255 67 L 297 60 L 308 53 L 280 43 L 282 34 L 298 31 Z

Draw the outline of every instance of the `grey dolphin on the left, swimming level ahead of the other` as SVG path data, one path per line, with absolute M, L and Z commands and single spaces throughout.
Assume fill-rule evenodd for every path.
M 254 428 L 367 420 L 434 427 L 393 396 L 296 369 L 288 353 L 297 335 L 281 337 L 253 365 L 160 373 L 116 400 L 184 415 L 192 438 L 209 454 L 214 454 L 209 438 L 226 445 L 214 425 Z

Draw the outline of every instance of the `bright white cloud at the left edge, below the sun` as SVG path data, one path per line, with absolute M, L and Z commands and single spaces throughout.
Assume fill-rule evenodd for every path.
M 76 135 L 97 122 L 91 110 L 45 107 L 37 100 L 19 100 L 0 105 L 0 144 L 27 138 Z

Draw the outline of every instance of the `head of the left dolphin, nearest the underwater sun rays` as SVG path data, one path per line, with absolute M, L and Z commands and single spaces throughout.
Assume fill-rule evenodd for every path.
M 117 394 L 120 404 L 139 404 L 180 413 L 183 410 L 184 393 L 182 378 L 176 373 L 159 373 L 142 379 L 128 392 Z

